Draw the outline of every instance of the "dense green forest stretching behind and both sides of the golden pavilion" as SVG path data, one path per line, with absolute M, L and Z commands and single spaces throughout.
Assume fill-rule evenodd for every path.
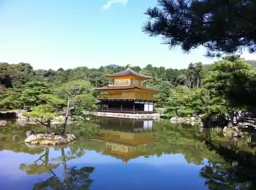
M 215 117 L 238 110 L 255 112 L 255 62 L 229 56 L 208 65 L 190 63 L 186 69 L 180 70 L 151 64 L 132 69 L 153 76 L 146 83 L 147 87 L 164 89 L 163 93 L 156 95 L 156 108 L 165 108 L 168 116 L 197 113 Z M 123 69 L 77 67 L 56 71 L 33 70 L 28 63 L 1 63 L 0 108 L 2 111 L 32 108 L 33 116 L 50 117 L 56 107 L 67 107 L 72 89 L 79 87 L 81 90 L 71 101 L 73 107 L 79 101 L 79 109 L 76 110 L 79 114 L 94 108 L 93 102 L 100 95 L 94 87 L 109 84 L 104 74 Z

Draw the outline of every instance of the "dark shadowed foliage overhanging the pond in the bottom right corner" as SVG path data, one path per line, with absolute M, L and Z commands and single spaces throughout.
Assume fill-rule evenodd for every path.
M 197 137 L 204 142 L 209 151 L 215 151 L 223 161 L 211 161 L 201 169 L 201 177 L 211 190 L 217 189 L 255 189 L 256 157 L 255 152 L 242 150 L 238 146 L 223 146 L 202 136 Z

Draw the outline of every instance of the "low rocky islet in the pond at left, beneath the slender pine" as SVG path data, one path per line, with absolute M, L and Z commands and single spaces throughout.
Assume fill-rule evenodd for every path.
M 39 145 L 58 145 L 68 144 L 76 139 L 74 134 L 58 135 L 58 134 L 31 134 L 25 140 L 25 143 Z

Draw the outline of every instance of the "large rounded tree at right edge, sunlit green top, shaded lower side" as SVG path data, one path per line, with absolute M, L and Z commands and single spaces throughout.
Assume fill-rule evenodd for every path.
M 226 100 L 231 109 L 255 113 L 256 70 L 243 59 L 225 57 L 207 72 L 204 87 Z

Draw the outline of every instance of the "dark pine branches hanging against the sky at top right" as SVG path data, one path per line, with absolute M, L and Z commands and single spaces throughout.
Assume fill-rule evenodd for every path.
M 189 51 L 204 45 L 209 57 L 256 51 L 256 4 L 252 0 L 158 0 L 148 8 L 142 31 L 161 36 L 170 47 Z M 246 32 L 245 32 L 246 31 Z

